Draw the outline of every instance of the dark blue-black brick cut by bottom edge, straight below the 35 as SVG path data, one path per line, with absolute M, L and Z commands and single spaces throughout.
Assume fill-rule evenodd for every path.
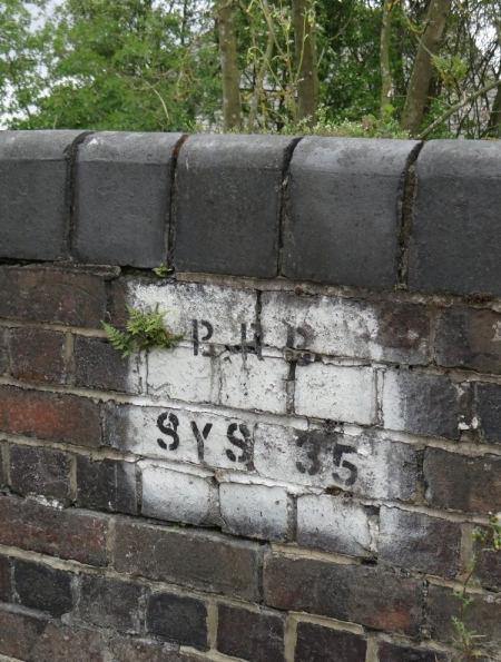
M 360 634 L 297 623 L 294 662 L 365 662 L 366 649 Z

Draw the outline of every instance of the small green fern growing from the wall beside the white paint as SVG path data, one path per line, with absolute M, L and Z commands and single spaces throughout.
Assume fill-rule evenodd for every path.
M 151 347 L 171 349 L 184 337 L 183 334 L 174 335 L 165 328 L 164 317 L 168 310 L 158 310 L 158 304 L 149 313 L 141 313 L 131 306 L 127 306 L 127 312 L 129 318 L 125 332 L 101 319 L 108 340 L 114 349 L 122 352 L 122 358 Z

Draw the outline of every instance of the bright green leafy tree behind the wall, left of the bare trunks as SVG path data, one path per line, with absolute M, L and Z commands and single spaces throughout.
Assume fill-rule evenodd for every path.
M 50 49 L 37 112 L 13 126 L 173 131 L 214 112 L 217 48 L 189 52 L 191 30 L 186 11 L 153 0 L 67 0 L 39 36 Z

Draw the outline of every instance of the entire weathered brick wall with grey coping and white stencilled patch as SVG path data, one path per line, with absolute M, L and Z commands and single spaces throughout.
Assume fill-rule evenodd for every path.
M 0 659 L 450 662 L 501 511 L 500 178 L 495 142 L 0 134 Z M 184 339 L 120 358 L 126 304 Z

